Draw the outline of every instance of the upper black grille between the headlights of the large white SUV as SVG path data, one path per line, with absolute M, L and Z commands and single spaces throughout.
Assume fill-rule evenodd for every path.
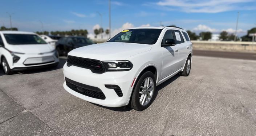
M 104 73 L 106 71 L 103 63 L 99 60 L 68 56 L 67 66 L 77 66 L 90 69 L 93 73 Z

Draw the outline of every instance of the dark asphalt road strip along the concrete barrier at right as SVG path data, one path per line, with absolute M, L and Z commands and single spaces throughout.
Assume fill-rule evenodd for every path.
M 256 53 L 247 52 L 222 52 L 222 51 L 203 51 L 193 50 L 195 56 L 222 57 L 222 58 L 238 58 L 245 60 L 256 60 Z

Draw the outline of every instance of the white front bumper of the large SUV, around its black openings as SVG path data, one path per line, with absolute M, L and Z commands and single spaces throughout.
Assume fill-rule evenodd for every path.
M 104 100 L 82 95 L 81 93 L 69 88 L 65 81 L 63 84 L 64 89 L 76 97 L 107 107 L 121 107 L 129 104 L 132 91 L 131 84 L 135 78 L 135 73 L 133 70 L 96 74 L 92 73 L 92 71 L 89 69 L 84 69 L 77 66 L 68 67 L 65 63 L 63 73 L 64 78 L 68 78 L 81 84 L 97 87 L 105 95 Z M 106 84 L 118 85 L 122 90 L 123 96 L 119 97 L 114 89 L 106 88 Z

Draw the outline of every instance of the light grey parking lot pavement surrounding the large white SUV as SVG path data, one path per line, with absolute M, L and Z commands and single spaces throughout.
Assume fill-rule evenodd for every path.
M 256 135 L 256 61 L 194 56 L 188 77 L 157 87 L 144 111 L 70 95 L 57 69 L 0 72 L 0 135 Z

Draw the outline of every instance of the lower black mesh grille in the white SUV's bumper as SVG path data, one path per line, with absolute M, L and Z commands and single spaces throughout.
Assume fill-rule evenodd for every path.
M 102 100 L 104 100 L 106 98 L 104 93 L 98 87 L 93 87 L 90 85 L 78 83 L 78 82 L 68 79 L 66 77 L 65 77 L 65 80 L 66 80 L 66 85 L 70 89 L 72 89 L 78 93 L 81 93 L 82 95 L 97 98 L 97 99 L 102 99 Z

